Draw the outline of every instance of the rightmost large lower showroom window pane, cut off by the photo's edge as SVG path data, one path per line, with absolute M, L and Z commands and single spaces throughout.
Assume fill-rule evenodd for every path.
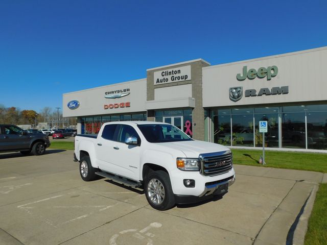
M 308 149 L 327 150 L 327 112 L 307 112 Z

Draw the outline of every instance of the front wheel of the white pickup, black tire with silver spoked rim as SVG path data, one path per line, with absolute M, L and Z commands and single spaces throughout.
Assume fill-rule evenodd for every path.
M 148 203 L 154 209 L 163 211 L 175 205 L 169 175 L 163 170 L 149 173 L 149 176 L 146 178 L 144 191 Z

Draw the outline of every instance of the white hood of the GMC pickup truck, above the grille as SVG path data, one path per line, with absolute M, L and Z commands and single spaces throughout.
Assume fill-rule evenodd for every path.
M 221 144 L 215 144 L 200 140 L 165 142 L 157 144 L 177 151 L 179 150 L 189 158 L 198 158 L 202 153 L 223 152 L 229 150 L 226 146 Z

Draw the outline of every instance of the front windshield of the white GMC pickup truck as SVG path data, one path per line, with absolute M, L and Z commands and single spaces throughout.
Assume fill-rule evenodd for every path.
M 193 140 L 178 128 L 167 124 L 137 125 L 144 137 L 151 143 Z

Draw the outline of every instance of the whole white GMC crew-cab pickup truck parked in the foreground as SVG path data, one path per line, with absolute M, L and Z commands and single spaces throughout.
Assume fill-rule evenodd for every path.
M 107 122 L 98 136 L 76 136 L 74 160 L 84 181 L 99 175 L 144 188 L 157 210 L 223 195 L 235 182 L 228 148 L 164 122 Z

